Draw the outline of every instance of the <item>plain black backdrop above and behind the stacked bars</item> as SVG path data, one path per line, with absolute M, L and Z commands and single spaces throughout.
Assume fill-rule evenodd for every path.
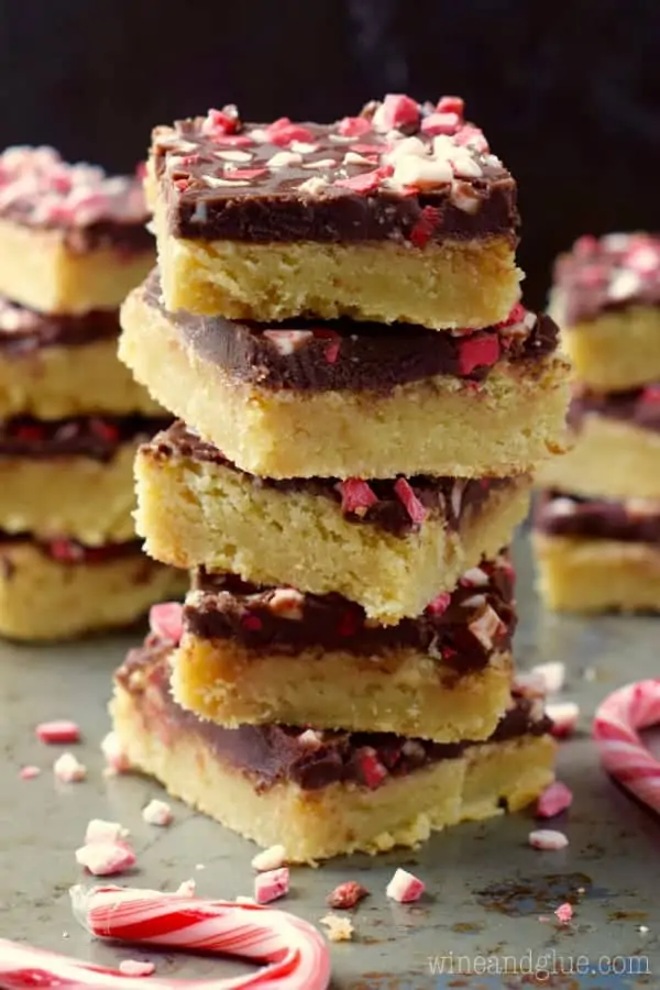
M 0 0 L 0 144 L 127 170 L 209 106 L 388 90 L 466 99 L 518 179 L 528 301 L 579 234 L 660 230 L 660 0 Z

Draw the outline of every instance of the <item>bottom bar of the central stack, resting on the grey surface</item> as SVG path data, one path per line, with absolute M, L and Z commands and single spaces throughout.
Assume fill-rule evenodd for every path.
M 517 695 L 485 744 L 285 726 L 221 728 L 169 692 L 170 645 L 152 637 L 116 675 L 114 728 L 134 768 L 292 862 L 416 846 L 464 818 L 517 811 L 552 780 L 542 702 Z

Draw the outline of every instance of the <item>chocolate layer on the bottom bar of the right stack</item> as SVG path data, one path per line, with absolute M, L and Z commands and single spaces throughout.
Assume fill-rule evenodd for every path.
M 539 532 L 551 536 L 660 543 L 660 502 L 613 502 L 544 492 L 537 501 L 534 525 Z

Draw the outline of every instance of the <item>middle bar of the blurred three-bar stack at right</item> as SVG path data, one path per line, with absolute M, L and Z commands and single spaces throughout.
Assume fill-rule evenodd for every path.
M 539 468 L 540 486 L 587 498 L 660 498 L 660 386 L 576 395 L 570 422 L 575 447 Z

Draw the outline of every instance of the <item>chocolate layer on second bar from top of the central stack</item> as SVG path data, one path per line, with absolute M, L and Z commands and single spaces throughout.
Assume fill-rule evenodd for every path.
M 437 375 L 483 381 L 499 360 L 538 361 L 558 344 L 557 324 L 516 307 L 505 323 L 484 331 L 438 333 L 409 324 L 353 320 L 289 320 L 273 326 L 222 317 L 167 312 L 158 276 L 144 299 L 166 316 L 204 361 L 241 382 L 296 392 L 391 393 Z

